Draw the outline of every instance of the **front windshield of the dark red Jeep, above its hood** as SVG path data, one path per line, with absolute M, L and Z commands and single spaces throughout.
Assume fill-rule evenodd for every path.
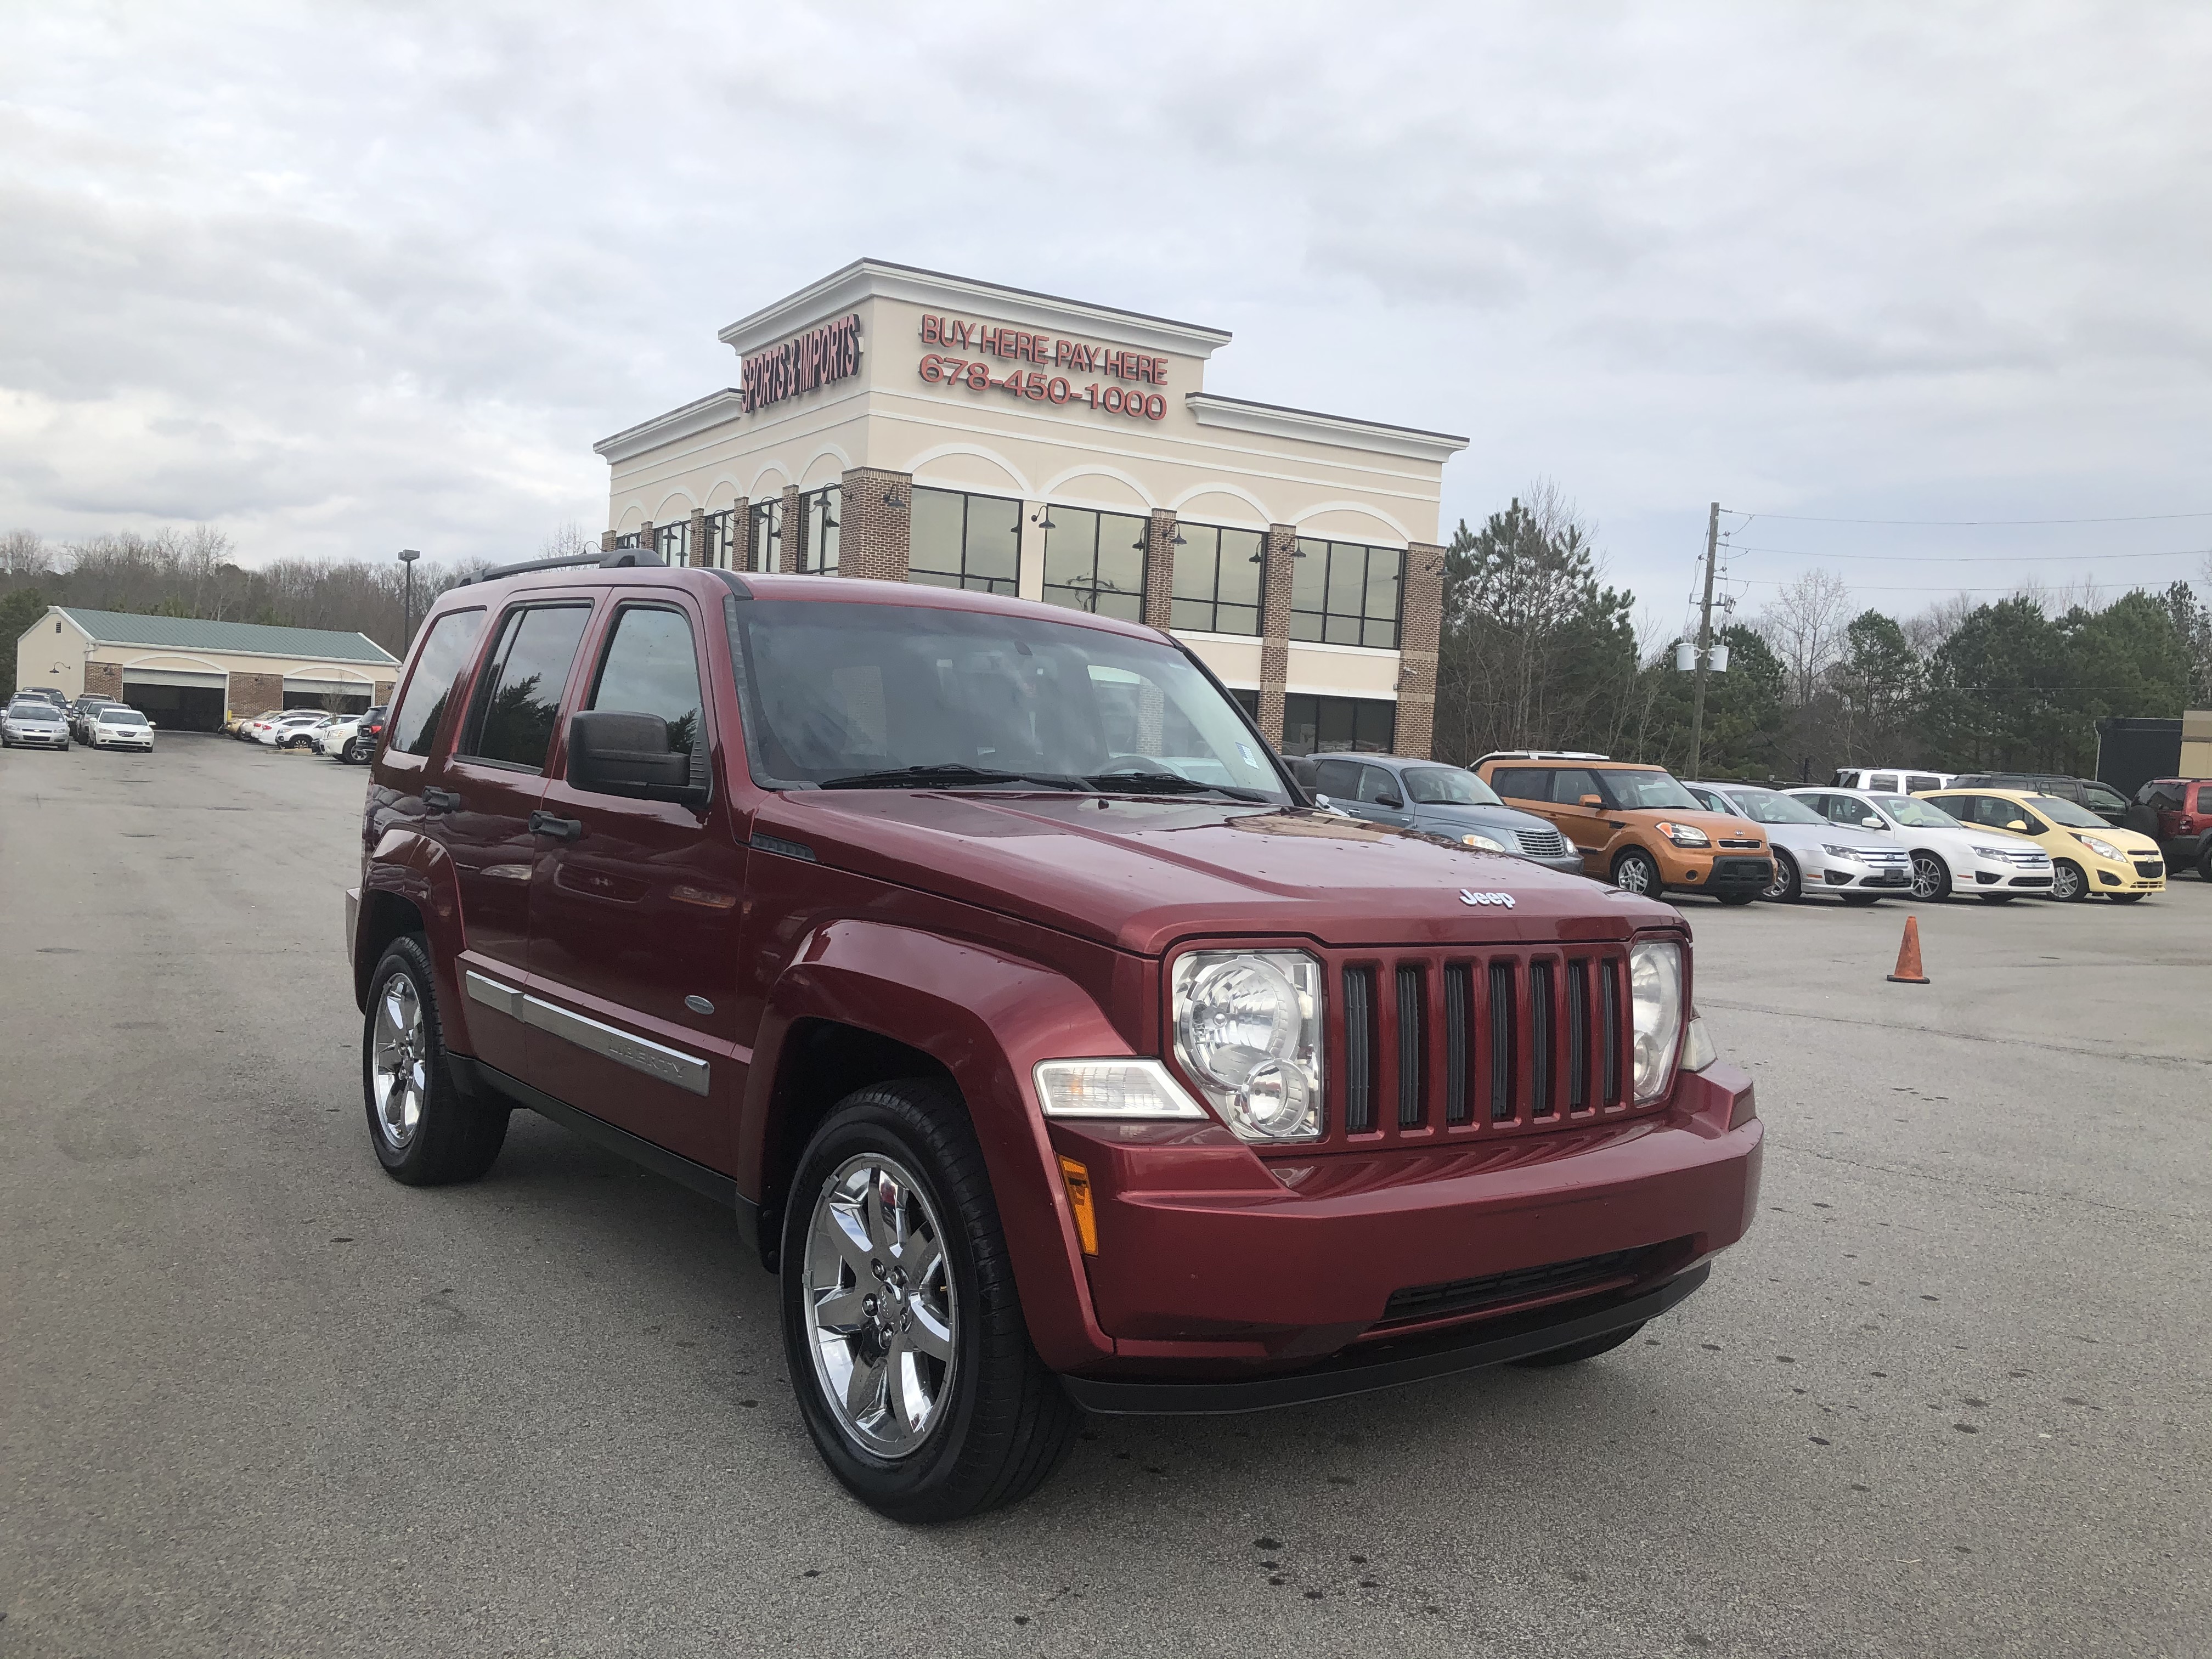
M 1287 805 L 1265 745 L 1181 650 L 907 604 L 730 604 L 761 787 L 1225 787 Z

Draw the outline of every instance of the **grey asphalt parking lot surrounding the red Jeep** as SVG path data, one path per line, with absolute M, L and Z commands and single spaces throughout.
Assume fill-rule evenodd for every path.
M 480 1186 L 378 1172 L 361 790 L 0 757 L 4 1655 L 2208 1650 L 2208 883 L 1688 900 L 1770 1126 L 1703 1292 L 1568 1371 L 1104 1420 L 907 1531 L 723 1212 L 526 1113 Z

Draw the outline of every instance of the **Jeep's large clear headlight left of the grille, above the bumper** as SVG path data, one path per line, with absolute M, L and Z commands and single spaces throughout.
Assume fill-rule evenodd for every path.
M 1321 1135 L 1321 962 L 1190 951 L 1170 987 L 1175 1057 L 1241 1139 Z

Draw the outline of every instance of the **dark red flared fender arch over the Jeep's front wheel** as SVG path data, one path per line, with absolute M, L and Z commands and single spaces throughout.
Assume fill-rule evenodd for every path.
M 982 1144 L 1029 1336 L 1053 1369 L 1113 1354 L 1099 1329 L 1060 1164 L 1031 1068 L 1064 1055 L 1126 1055 L 1106 1013 L 1064 975 L 982 945 L 838 920 L 807 938 L 768 998 L 737 1126 L 739 1192 L 765 1194 L 776 1071 L 799 1020 L 836 1020 L 922 1051 L 951 1073 Z

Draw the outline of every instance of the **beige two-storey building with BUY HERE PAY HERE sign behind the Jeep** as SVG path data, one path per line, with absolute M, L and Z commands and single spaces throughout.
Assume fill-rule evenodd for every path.
M 1128 617 L 1290 754 L 1429 752 L 1464 438 L 1208 392 L 1217 327 L 880 259 L 721 341 L 737 385 L 593 445 L 606 546 Z

